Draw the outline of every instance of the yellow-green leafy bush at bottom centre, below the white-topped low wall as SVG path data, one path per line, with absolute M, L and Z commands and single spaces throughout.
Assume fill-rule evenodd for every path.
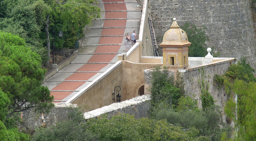
M 205 140 L 198 137 L 198 130 L 194 127 L 182 129 L 166 122 L 148 118 L 135 119 L 128 114 L 118 114 L 111 119 L 102 117 L 90 119 L 86 122 L 86 129 L 104 141 L 156 141 L 156 140 Z

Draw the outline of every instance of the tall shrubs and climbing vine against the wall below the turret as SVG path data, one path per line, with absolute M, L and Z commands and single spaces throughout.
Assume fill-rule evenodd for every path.
M 151 118 L 156 120 L 165 119 L 168 123 L 182 127 L 183 129 L 195 127 L 199 131 L 198 137 L 203 136 L 209 140 L 218 141 L 222 133 L 227 133 L 229 136 L 231 129 L 222 123 L 220 107 L 214 105 L 213 98 L 206 88 L 204 69 L 200 71 L 202 74 L 200 77 L 201 98 L 203 98 L 202 95 L 205 95 L 204 98 L 208 97 L 212 99 L 210 100 L 212 103 L 209 103 L 209 100 L 204 102 L 202 99 L 202 105 L 205 105 L 203 109 L 199 109 L 197 101 L 193 100 L 190 96 L 184 97 L 184 93 L 180 93 L 178 90 L 171 91 L 175 90 L 175 88 L 184 89 L 184 85 L 182 86 L 183 88 L 174 85 L 173 77 L 168 76 L 167 71 L 160 71 L 156 68 L 156 71 L 152 73 L 151 99 L 153 103 Z M 180 75 L 176 79 L 182 81 Z M 163 90 L 166 90 L 166 87 L 170 88 L 170 85 L 174 88 L 169 89 L 169 93 L 166 94 L 166 91 Z M 155 102 L 155 99 L 158 102 Z M 222 125 L 222 128 L 220 125 Z

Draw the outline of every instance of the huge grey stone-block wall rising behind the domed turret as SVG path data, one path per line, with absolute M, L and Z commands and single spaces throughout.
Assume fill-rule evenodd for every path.
M 256 68 L 255 36 L 249 0 L 149 0 L 153 26 L 159 43 L 172 19 L 180 25 L 206 26 L 208 47 L 219 57 L 247 57 Z

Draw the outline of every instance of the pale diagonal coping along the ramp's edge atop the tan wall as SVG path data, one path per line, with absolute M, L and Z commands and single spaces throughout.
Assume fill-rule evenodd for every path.
M 77 94 L 72 96 L 69 100 L 67 100 L 65 103 L 72 103 L 74 100 L 79 98 L 84 92 L 92 88 L 95 84 L 97 84 L 100 80 L 102 80 L 105 76 L 107 76 L 110 72 L 112 72 L 114 69 L 116 69 L 119 65 L 122 64 L 122 61 L 117 61 L 114 65 L 112 65 L 110 68 L 108 68 L 104 73 L 100 74 L 96 79 L 94 79 L 90 84 L 85 86 L 82 90 L 80 90 Z

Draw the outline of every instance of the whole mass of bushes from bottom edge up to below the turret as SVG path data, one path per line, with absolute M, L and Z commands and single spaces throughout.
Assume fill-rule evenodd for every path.
M 98 119 L 84 121 L 82 116 L 75 116 L 80 118 L 69 118 L 52 127 L 39 128 L 33 140 L 219 141 L 222 133 L 229 137 L 231 129 L 221 122 L 218 106 L 202 110 L 196 100 L 184 97 L 180 74 L 174 82 L 166 69 L 156 68 L 152 77 L 152 111 L 149 118 L 135 119 L 134 116 L 118 114 L 110 119 L 102 115 Z M 72 115 L 82 115 L 82 112 Z

